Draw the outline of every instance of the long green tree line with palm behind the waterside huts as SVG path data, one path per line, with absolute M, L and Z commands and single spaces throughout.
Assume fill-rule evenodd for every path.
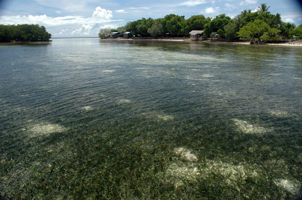
M 296 27 L 290 22 L 283 22 L 281 15 L 271 14 L 266 4 L 261 4 L 256 12 L 244 10 L 233 19 L 220 14 L 215 18 L 193 15 L 188 19 L 175 14 L 163 18 L 142 18 L 130 21 L 117 29 L 101 29 L 99 37 L 106 37 L 110 32 L 131 32 L 136 37 L 187 37 L 192 30 L 204 30 L 204 36 L 218 34 L 228 40 L 279 40 L 302 39 L 302 25 Z

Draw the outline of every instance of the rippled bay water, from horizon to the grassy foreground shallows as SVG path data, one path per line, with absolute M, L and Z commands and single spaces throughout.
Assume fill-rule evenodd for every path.
M 301 47 L 63 38 L 0 61 L 0 197 L 301 193 Z

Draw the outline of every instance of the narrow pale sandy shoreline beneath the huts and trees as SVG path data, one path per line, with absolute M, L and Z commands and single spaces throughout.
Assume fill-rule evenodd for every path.
M 184 42 L 191 42 L 190 38 L 103 38 L 100 40 L 152 40 L 152 41 L 184 41 Z M 198 40 L 198 41 L 192 41 L 192 42 L 213 42 L 213 43 L 229 43 L 229 44 L 250 44 L 249 41 L 236 41 L 236 42 L 230 42 L 230 41 L 221 41 L 221 40 Z M 257 45 L 257 44 L 253 44 Z M 302 47 L 302 41 L 287 41 L 287 42 L 280 42 L 280 43 L 266 43 L 262 45 L 277 45 L 277 46 L 301 46 Z

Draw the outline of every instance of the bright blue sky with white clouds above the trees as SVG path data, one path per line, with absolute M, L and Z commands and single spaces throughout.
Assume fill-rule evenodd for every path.
M 260 4 L 270 6 L 285 22 L 302 23 L 299 0 L 0 0 L 0 24 L 39 24 L 52 37 L 97 37 L 101 28 L 117 28 L 142 17 L 162 18 L 177 14 L 235 17 L 243 10 L 254 11 Z

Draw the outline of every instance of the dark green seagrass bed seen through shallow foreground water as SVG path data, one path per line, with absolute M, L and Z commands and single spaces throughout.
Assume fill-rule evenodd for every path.
M 242 120 L 233 127 L 228 124 L 232 121 L 217 121 L 209 129 L 198 120 L 168 126 L 170 119 L 161 118 L 134 117 L 103 128 L 94 124 L 56 129 L 45 137 L 20 136 L 19 143 L 27 144 L 3 148 L 2 195 L 7 199 L 296 197 L 300 151 L 286 134 L 244 134 L 251 126 Z M 48 127 L 55 129 L 53 124 Z M 253 126 L 251 132 L 258 129 Z M 3 140 L 8 142 L 9 134 Z

